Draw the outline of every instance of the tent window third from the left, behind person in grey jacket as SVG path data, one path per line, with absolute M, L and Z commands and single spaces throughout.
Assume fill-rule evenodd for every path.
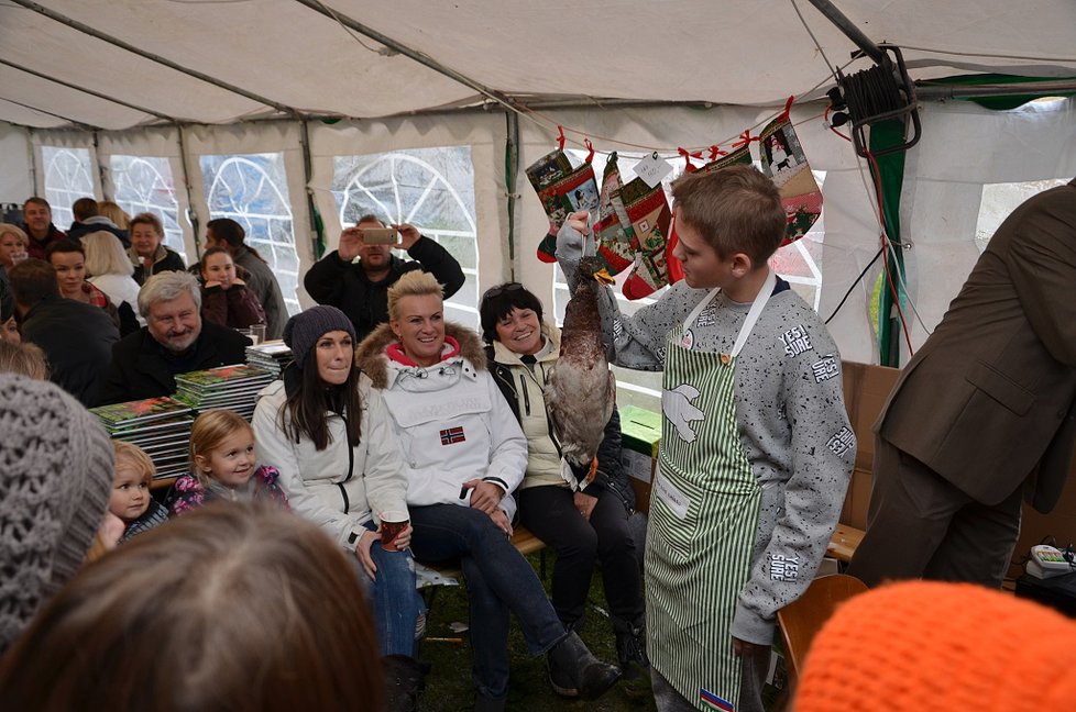
M 231 218 L 243 226 L 246 243 L 273 268 L 288 313 L 301 311 L 284 154 L 201 156 L 200 165 L 210 218 Z

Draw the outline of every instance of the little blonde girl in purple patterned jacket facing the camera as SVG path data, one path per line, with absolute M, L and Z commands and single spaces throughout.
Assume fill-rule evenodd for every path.
M 275 467 L 257 467 L 254 431 L 229 410 L 206 411 L 190 429 L 190 468 L 168 492 L 168 512 L 176 515 L 212 500 L 268 501 L 289 509 Z

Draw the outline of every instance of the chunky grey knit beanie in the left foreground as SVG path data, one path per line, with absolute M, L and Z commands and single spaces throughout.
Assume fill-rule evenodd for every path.
M 86 558 L 113 458 L 97 418 L 58 386 L 0 374 L 0 654 Z

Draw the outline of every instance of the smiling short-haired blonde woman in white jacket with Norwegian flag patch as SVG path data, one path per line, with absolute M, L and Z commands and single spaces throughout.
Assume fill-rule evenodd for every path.
M 527 467 L 527 441 L 486 370 L 477 335 L 444 323 L 441 286 L 424 271 L 407 272 L 388 289 L 388 318 L 360 345 L 356 361 L 384 393 L 403 453 L 415 557 L 459 559 L 466 578 L 474 709 L 504 709 L 509 611 L 530 653 L 547 654 L 553 689 L 602 694 L 619 671 L 564 630 L 508 539 L 510 493 Z

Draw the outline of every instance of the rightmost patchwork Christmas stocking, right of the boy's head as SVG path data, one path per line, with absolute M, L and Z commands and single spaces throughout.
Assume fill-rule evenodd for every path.
M 782 246 L 805 235 L 822 214 L 822 191 L 789 120 L 791 105 L 789 100 L 784 113 L 768 123 L 759 134 L 762 173 L 780 188 L 781 202 L 788 216 Z

